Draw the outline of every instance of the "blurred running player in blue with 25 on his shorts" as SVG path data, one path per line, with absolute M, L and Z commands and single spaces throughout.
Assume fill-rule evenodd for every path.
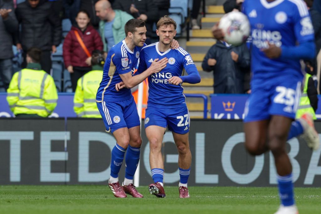
M 305 132 L 310 148 L 319 145 L 309 114 L 292 123 L 303 79 L 299 60 L 315 57 L 313 26 L 301 0 L 245 0 L 242 10 L 251 25 L 253 72 L 245 146 L 252 155 L 271 150 L 274 156 L 281 200 L 275 214 L 298 214 L 286 141 Z

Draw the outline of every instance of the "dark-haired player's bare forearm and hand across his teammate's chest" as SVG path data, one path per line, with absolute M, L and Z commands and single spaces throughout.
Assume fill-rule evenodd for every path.
M 166 57 L 162 58 L 161 60 L 155 59 L 152 62 L 151 66 L 140 74 L 132 76 L 132 73 L 128 72 L 124 74 L 119 74 L 119 76 L 124 82 L 126 88 L 133 88 L 134 86 L 144 81 L 144 79 L 146 79 L 149 75 L 160 72 L 162 69 L 166 67 L 167 63 L 168 59 Z

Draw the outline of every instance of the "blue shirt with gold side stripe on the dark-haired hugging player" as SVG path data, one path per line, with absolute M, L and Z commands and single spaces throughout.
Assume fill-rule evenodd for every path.
M 135 47 L 134 51 L 131 51 L 123 40 L 108 51 L 96 101 L 120 101 L 132 97 L 130 89 L 123 88 L 116 91 L 115 85 L 122 81 L 119 74 L 134 73 L 141 49 L 142 47 Z

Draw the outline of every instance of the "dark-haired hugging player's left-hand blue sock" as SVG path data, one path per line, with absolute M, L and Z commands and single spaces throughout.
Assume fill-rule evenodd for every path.
M 125 152 L 126 149 L 116 143 L 111 151 L 110 176 L 118 178 L 118 173 L 123 163 Z

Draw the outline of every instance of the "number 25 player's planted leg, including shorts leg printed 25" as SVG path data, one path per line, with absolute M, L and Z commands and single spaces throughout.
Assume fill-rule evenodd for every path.
M 300 81 L 276 82 L 269 114 L 268 146 L 271 150 L 277 171 L 277 180 L 281 206 L 277 214 L 297 213 L 292 184 L 292 165 L 286 151 L 286 141 L 295 118 L 300 98 Z

